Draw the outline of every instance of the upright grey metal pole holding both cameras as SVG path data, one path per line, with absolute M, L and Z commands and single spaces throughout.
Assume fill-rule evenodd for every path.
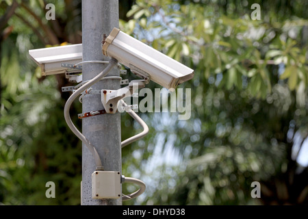
M 107 36 L 118 27 L 118 0 L 82 0 L 82 58 L 83 61 L 107 60 L 101 51 L 103 34 Z M 84 63 L 83 81 L 92 79 L 105 68 L 104 64 Z M 115 67 L 107 76 L 119 76 Z M 104 79 L 92 86 L 93 90 L 116 90 L 120 88 L 119 79 Z M 88 94 L 82 99 L 82 112 L 103 110 L 101 95 Z M 94 145 L 101 157 L 104 170 L 121 170 L 120 113 L 102 114 L 83 118 L 82 133 Z M 94 157 L 83 144 L 81 205 L 122 205 L 118 199 L 92 199 L 92 172 L 95 170 Z

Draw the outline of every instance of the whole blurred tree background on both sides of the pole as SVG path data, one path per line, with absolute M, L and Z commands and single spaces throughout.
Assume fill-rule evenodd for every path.
M 54 21 L 45 18 L 47 3 L 55 5 Z M 253 3 L 260 20 L 252 19 Z M 179 86 L 192 89 L 189 120 L 139 113 L 150 133 L 123 149 L 123 175 L 147 188 L 123 204 L 307 205 L 307 6 L 119 1 L 120 29 L 195 70 Z M 0 203 L 79 205 L 81 142 L 66 126 L 69 94 L 61 92 L 70 83 L 64 75 L 40 77 L 28 51 L 81 43 L 81 1 L 5 0 L 0 7 Z M 80 128 L 81 104 L 71 112 Z M 123 139 L 140 131 L 121 117 Z M 45 196 L 47 181 L 55 182 L 55 198 Z M 261 198 L 251 197 L 253 181 Z M 124 194 L 134 190 L 123 186 Z

